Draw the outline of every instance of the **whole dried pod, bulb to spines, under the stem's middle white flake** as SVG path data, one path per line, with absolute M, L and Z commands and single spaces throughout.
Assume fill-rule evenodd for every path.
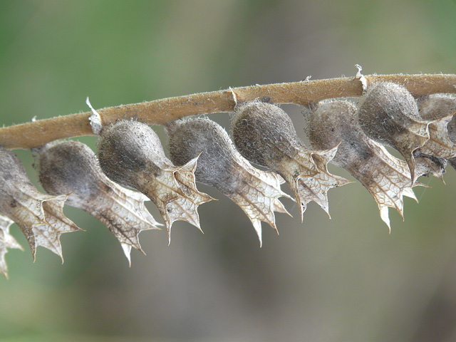
M 311 201 L 329 215 L 328 190 L 349 183 L 326 168 L 336 154 L 336 145 L 328 150 L 309 150 L 298 138 L 289 115 L 270 103 L 240 104 L 231 119 L 237 150 L 250 162 L 284 177 L 300 204 L 301 221 Z

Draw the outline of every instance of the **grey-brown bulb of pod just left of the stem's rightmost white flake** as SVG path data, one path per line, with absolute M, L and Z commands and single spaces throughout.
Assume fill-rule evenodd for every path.
M 307 135 L 312 147 L 325 150 L 340 144 L 331 161 L 334 165 L 348 167 L 373 155 L 364 143 L 366 135 L 358 126 L 356 110 L 356 105 L 346 100 L 322 101 L 310 115 Z

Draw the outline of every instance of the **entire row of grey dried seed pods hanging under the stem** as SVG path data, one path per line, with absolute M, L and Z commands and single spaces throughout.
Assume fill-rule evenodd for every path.
M 277 230 L 274 212 L 288 214 L 279 200 L 289 197 L 281 190 L 284 182 L 299 204 L 301 221 L 311 201 L 329 214 L 328 190 L 349 181 L 328 172 L 328 162 L 366 187 L 390 227 L 388 207 L 403 215 L 403 196 L 415 198 L 412 188 L 421 185 L 418 177 L 442 179 L 447 161 L 456 165 L 455 111 L 451 95 L 415 99 L 402 86 L 378 83 L 359 103 L 332 99 L 312 104 L 306 115 L 309 149 L 284 110 L 255 100 L 237 104 L 231 115 L 232 139 L 208 118 L 165 125 L 170 159 L 148 125 L 120 120 L 97 130 L 98 158 L 73 140 L 33 149 L 48 195 L 31 184 L 13 152 L 0 148 L 0 271 L 7 275 L 7 249 L 21 248 L 9 234 L 12 222 L 26 236 L 33 258 L 38 246 L 62 257 L 60 235 L 80 230 L 63 215 L 64 202 L 103 222 L 128 261 L 132 247 L 142 251 L 138 234 L 161 225 L 147 212 L 147 199 L 157 206 L 168 239 L 177 220 L 200 229 L 197 207 L 213 198 L 199 192 L 195 181 L 237 203 L 261 244 L 261 222 Z M 383 145 L 394 147 L 405 161 Z

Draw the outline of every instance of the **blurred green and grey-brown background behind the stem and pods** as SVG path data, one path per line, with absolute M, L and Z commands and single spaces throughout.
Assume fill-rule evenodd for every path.
M 455 73 L 455 17 L 453 1 L 0 1 L 1 120 L 87 111 L 88 95 L 103 108 L 354 76 L 356 63 Z M 305 138 L 301 108 L 284 108 Z M 168 247 L 142 232 L 131 268 L 67 208 L 87 232 L 63 235 L 63 265 L 41 247 L 34 264 L 28 248 L 6 254 L 0 341 L 455 341 L 456 172 L 423 182 L 405 222 L 390 210 L 391 234 L 359 183 L 329 192 L 331 220 L 311 203 L 301 224 L 284 200 L 294 218 L 276 215 L 280 237 L 264 225 L 261 249 L 242 210 L 201 186 L 220 199 L 199 208 L 204 235 L 177 222 Z

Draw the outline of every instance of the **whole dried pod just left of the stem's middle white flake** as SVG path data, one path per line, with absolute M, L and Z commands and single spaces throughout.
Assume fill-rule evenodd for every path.
M 261 221 L 276 229 L 274 211 L 286 212 L 279 197 L 279 175 L 257 170 L 237 152 L 228 133 L 212 120 L 194 118 L 167 125 L 172 162 L 182 165 L 199 155 L 195 177 L 215 187 L 244 210 L 257 231 L 261 245 Z

